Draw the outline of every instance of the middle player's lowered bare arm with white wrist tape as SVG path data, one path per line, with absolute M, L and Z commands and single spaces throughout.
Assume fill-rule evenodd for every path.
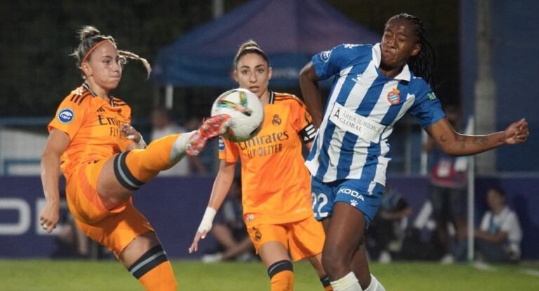
M 217 213 L 221 207 L 222 202 L 225 201 L 228 191 L 232 186 L 235 168 L 236 163 L 221 161 L 219 172 L 217 177 L 215 177 L 215 182 L 213 182 L 213 189 L 211 190 L 208 208 L 206 208 L 206 212 L 204 212 L 204 217 L 202 217 L 202 221 L 200 222 L 197 234 L 194 236 L 189 252 L 196 252 L 199 249 L 199 241 L 206 238 L 206 234 L 211 230 L 215 213 Z

